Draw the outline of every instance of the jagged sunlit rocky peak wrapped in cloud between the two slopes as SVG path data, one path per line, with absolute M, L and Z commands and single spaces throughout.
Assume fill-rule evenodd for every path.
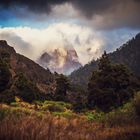
M 45 52 L 39 58 L 38 63 L 44 68 L 48 67 L 53 72 L 67 75 L 82 66 L 73 48 L 57 48 L 52 52 Z

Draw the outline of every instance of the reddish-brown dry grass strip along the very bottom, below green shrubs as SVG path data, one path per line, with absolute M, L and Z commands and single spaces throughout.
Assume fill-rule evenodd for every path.
M 105 127 L 82 119 L 51 115 L 39 119 L 26 116 L 0 122 L 0 140 L 139 140 L 140 125 Z

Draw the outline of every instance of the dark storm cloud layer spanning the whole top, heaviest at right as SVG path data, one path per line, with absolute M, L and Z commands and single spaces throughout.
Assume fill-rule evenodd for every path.
M 140 0 L 0 0 L 2 8 L 25 7 L 33 13 L 49 14 L 54 6 L 69 3 L 79 20 L 97 28 L 140 28 Z M 70 13 L 69 9 L 64 11 Z

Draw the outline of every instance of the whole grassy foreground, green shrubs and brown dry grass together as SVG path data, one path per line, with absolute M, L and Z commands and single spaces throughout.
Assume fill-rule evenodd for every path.
M 131 103 L 110 113 L 74 113 L 64 102 L 0 104 L 0 140 L 139 140 Z

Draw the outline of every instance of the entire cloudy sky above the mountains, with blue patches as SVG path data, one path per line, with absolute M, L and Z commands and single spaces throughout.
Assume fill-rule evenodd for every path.
M 32 60 L 75 49 L 84 65 L 140 31 L 140 0 L 0 0 L 0 40 Z

